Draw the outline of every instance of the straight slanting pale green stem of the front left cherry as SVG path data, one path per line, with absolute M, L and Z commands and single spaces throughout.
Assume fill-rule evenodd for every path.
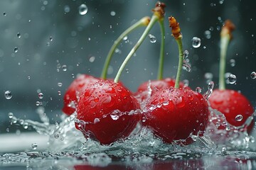
M 126 66 L 127 62 L 129 61 L 129 59 L 132 57 L 132 55 L 134 55 L 134 53 L 137 51 L 137 49 L 139 48 L 140 45 L 142 45 L 142 42 L 144 41 L 144 39 L 146 38 L 146 36 L 149 33 L 149 30 L 151 30 L 151 28 L 154 26 L 154 23 L 156 23 L 156 21 L 159 18 L 155 15 L 152 16 L 151 21 L 149 22 L 149 25 L 146 27 L 146 29 L 144 30 L 144 33 L 142 34 L 142 36 L 139 38 L 138 42 L 134 45 L 134 47 L 132 48 L 132 50 L 129 52 L 129 54 L 127 55 L 127 57 L 125 58 L 124 62 L 122 63 L 121 67 L 119 68 L 116 77 L 114 78 L 114 82 L 117 83 L 122 71 L 124 70 L 124 67 Z

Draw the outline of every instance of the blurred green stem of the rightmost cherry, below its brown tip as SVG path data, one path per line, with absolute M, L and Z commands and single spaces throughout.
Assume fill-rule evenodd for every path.
M 220 72 L 219 72 L 219 89 L 225 90 L 225 62 L 228 50 L 230 35 L 221 36 L 220 38 Z

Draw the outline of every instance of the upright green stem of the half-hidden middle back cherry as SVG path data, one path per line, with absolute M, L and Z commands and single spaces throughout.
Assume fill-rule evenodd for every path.
M 164 36 L 165 36 L 165 30 L 164 30 L 164 18 L 159 20 L 159 26 L 161 29 L 161 48 L 160 48 L 160 57 L 159 57 L 159 70 L 157 74 L 157 79 L 163 79 L 163 69 L 164 69 Z

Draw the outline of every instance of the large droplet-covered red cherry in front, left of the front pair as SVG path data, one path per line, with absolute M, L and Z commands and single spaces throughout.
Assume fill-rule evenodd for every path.
M 78 119 L 85 121 L 85 129 L 80 129 L 85 137 L 98 140 L 102 145 L 110 145 L 119 139 L 128 137 L 137 125 L 140 114 L 120 115 L 113 120 L 110 113 L 135 111 L 139 109 L 137 100 L 119 83 L 100 80 L 85 89 L 78 103 Z M 100 121 L 95 123 L 95 118 Z M 88 134 L 86 134 L 88 133 Z

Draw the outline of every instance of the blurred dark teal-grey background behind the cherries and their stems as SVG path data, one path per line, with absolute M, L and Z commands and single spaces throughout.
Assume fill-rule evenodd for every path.
M 191 72 L 183 72 L 192 89 L 207 89 L 205 74 L 213 74 L 218 84 L 220 28 L 230 18 L 236 25 L 233 41 L 228 47 L 226 71 L 236 75 L 237 83 L 228 89 L 242 91 L 256 106 L 255 71 L 256 16 L 255 1 L 164 1 L 166 3 L 166 60 L 164 77 L 175 77 L 178 48 L 168 25 L 174 16 L 183 33 L 183 48 L 188 50 Z M 91 74 L 100 77 L 103 63 L 114 40 L 126 28 L 144 16 L 151 16 L 156 1 L 80 1 L 49 0 L 0 2 L 0 133 L 12 132 L 8 113 L 18 118 L 38 120 L 36 102 L 46 109 L 51 122 L 58 122 L 63 106 L 63 94 L 73 81 L 73 75 Z M 79 6 L 87 13 L 81 15 Z M 119 65 L 139 39 L 144 28 L 128 36 L 114 54 L 108 77 L 114 78 Z M 20 34 L 20 38 L 18 36 Z M 132 91 L 143 81 L 156 79 L 160 30 L 151 30 L 156 42 L 146 38 L 123 72 L 121 81 Z M 201 38 L 201 46 L 192 47 L 191 39 Z M 51 40 L 50 40 L 51 39 Z M 15 52 L 15 48 L 18 51 Z M 235 60 L 235 66 L 230 60 Z M 5 91 L 12 98 L 6 99 Z M 38 93 L 43 98 L 38 98 Z M 15 129 L 14 129 L 15 130 Z

